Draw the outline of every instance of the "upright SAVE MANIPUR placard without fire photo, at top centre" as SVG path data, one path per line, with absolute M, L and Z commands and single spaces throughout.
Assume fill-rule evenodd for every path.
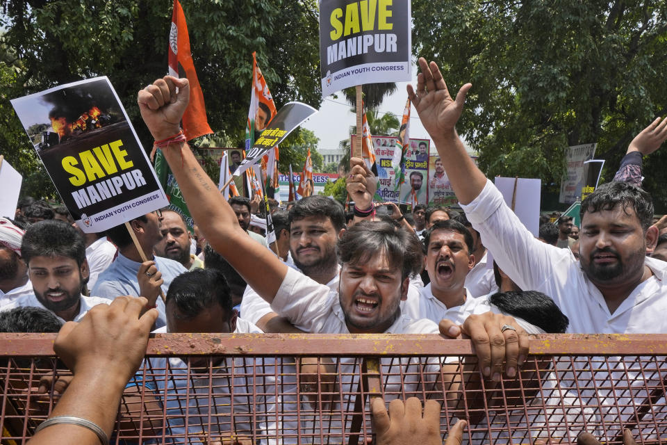
M 322 97 L 411 80 L 410 0 L 321 0 Z

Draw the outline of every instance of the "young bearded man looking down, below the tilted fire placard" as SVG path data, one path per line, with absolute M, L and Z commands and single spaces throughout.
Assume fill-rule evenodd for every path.
M 111 300 L 83 296 L 88 281 L 83 236 L 74 227 L 57 220 L 44 220 L 28 227 L 21 243 L 34 293 L 22 296 L 2 310 L 42 307 L 60 321 L 79 321 L 95 305 Z M 119 294 L 120 295 L 120 294 Z

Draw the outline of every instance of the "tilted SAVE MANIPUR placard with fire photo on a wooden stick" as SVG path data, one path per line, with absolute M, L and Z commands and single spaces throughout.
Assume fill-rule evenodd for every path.
M 106 77 L 11 102 L 83 232 L 103 232 L 169 204 Z

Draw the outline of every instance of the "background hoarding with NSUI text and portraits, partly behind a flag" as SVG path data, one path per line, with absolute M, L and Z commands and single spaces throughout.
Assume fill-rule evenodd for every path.
M 354 136 L 352 135 L 352 140 Z M 405 182 L 398 189 L 396 170 L 392 162 L 395 152 L 402 150 L 398 139 L 392 136 L 372 136 L 372 140 L 379 179 L 377 195 L 385 202 L 426 204 L 430 140 L 409 140 L 405 156 Z

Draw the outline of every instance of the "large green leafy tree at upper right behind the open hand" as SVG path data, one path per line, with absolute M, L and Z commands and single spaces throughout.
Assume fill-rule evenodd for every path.
M 598 143 L 613 177 L 633 136 L 667 109 L 664 1 L 412 3 L 413 53 L 435 60 L 452 95 L 470 81 L 459 131 L 495 175 L 558 188 L 569 145 Z M 667 153 L 645 182 L 663 201 Z

